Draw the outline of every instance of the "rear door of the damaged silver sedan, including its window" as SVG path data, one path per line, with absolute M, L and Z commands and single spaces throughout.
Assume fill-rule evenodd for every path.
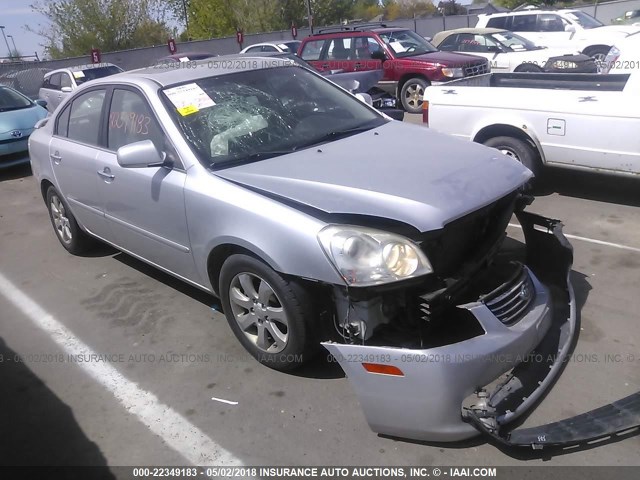
M 76 97 L 56 117 L 49 157 L 56 183 L 78 222 L 108 239 L 96 192 L 96 156 L 106 90 L 96 88 Z

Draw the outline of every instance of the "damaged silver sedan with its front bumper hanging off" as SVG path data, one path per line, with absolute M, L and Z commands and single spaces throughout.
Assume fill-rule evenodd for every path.
M 549 445 L 638 423 L 635 396 L 607 422 L 503 431 L 576 330 L 571 246 L 525 211 L 531 172 L 291 62 L 194 65 L 90 82 L 31 135 L 68 251 L 97 238 L 215 294 L 269 367 L 323 345 L 376 432 Z M 524 243 L 506 238 L 514 214 Z

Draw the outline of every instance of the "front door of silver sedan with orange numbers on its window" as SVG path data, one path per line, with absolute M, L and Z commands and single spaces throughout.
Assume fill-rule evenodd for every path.
M 98 154 L 98 192 L 106 222 L 121 248 L 186 278 L 195 278 L 184 205 L 186 172 L 146 97 L 116 87 L 110 100 L 106 149 Z M 123 168 L 120 147 L 151 140 L 171 152 L 174 168 Z

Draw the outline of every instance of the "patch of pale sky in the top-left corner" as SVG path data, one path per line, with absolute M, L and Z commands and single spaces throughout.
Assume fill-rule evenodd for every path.
M 24 28 L 25 25 L 29 25 L 37 29 L 39 24 L 45 25 L 47 22 L 45 17 L 31 9 L 30 5 L 33 2 L 34 0 L 0 0 L 0 25 L 4 25 L 5 35 L 13 36 L 18 52 L 22 55 L 33 55 L 34 52 L 38 52 L 42 59 L 43 48 L 40 43 L 44 39 Z M 7 38 L 7 41 L 13 50 L 11 38 Z M 0 57 L 7 57 L 8 53 L 7 44 L 0 34 Z

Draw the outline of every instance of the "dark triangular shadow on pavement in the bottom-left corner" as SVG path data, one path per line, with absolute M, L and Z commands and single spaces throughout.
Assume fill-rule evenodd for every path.
M 102 452 L 84 434 L 71 409 L 1 337 L 0 359 L 0 466 L 106 467 Z M 29 472 L 36 471 L 16 469 L 11 478 L 25 478 Z M 56 478 L 115 479 L 108 468 L 64 469 Z

